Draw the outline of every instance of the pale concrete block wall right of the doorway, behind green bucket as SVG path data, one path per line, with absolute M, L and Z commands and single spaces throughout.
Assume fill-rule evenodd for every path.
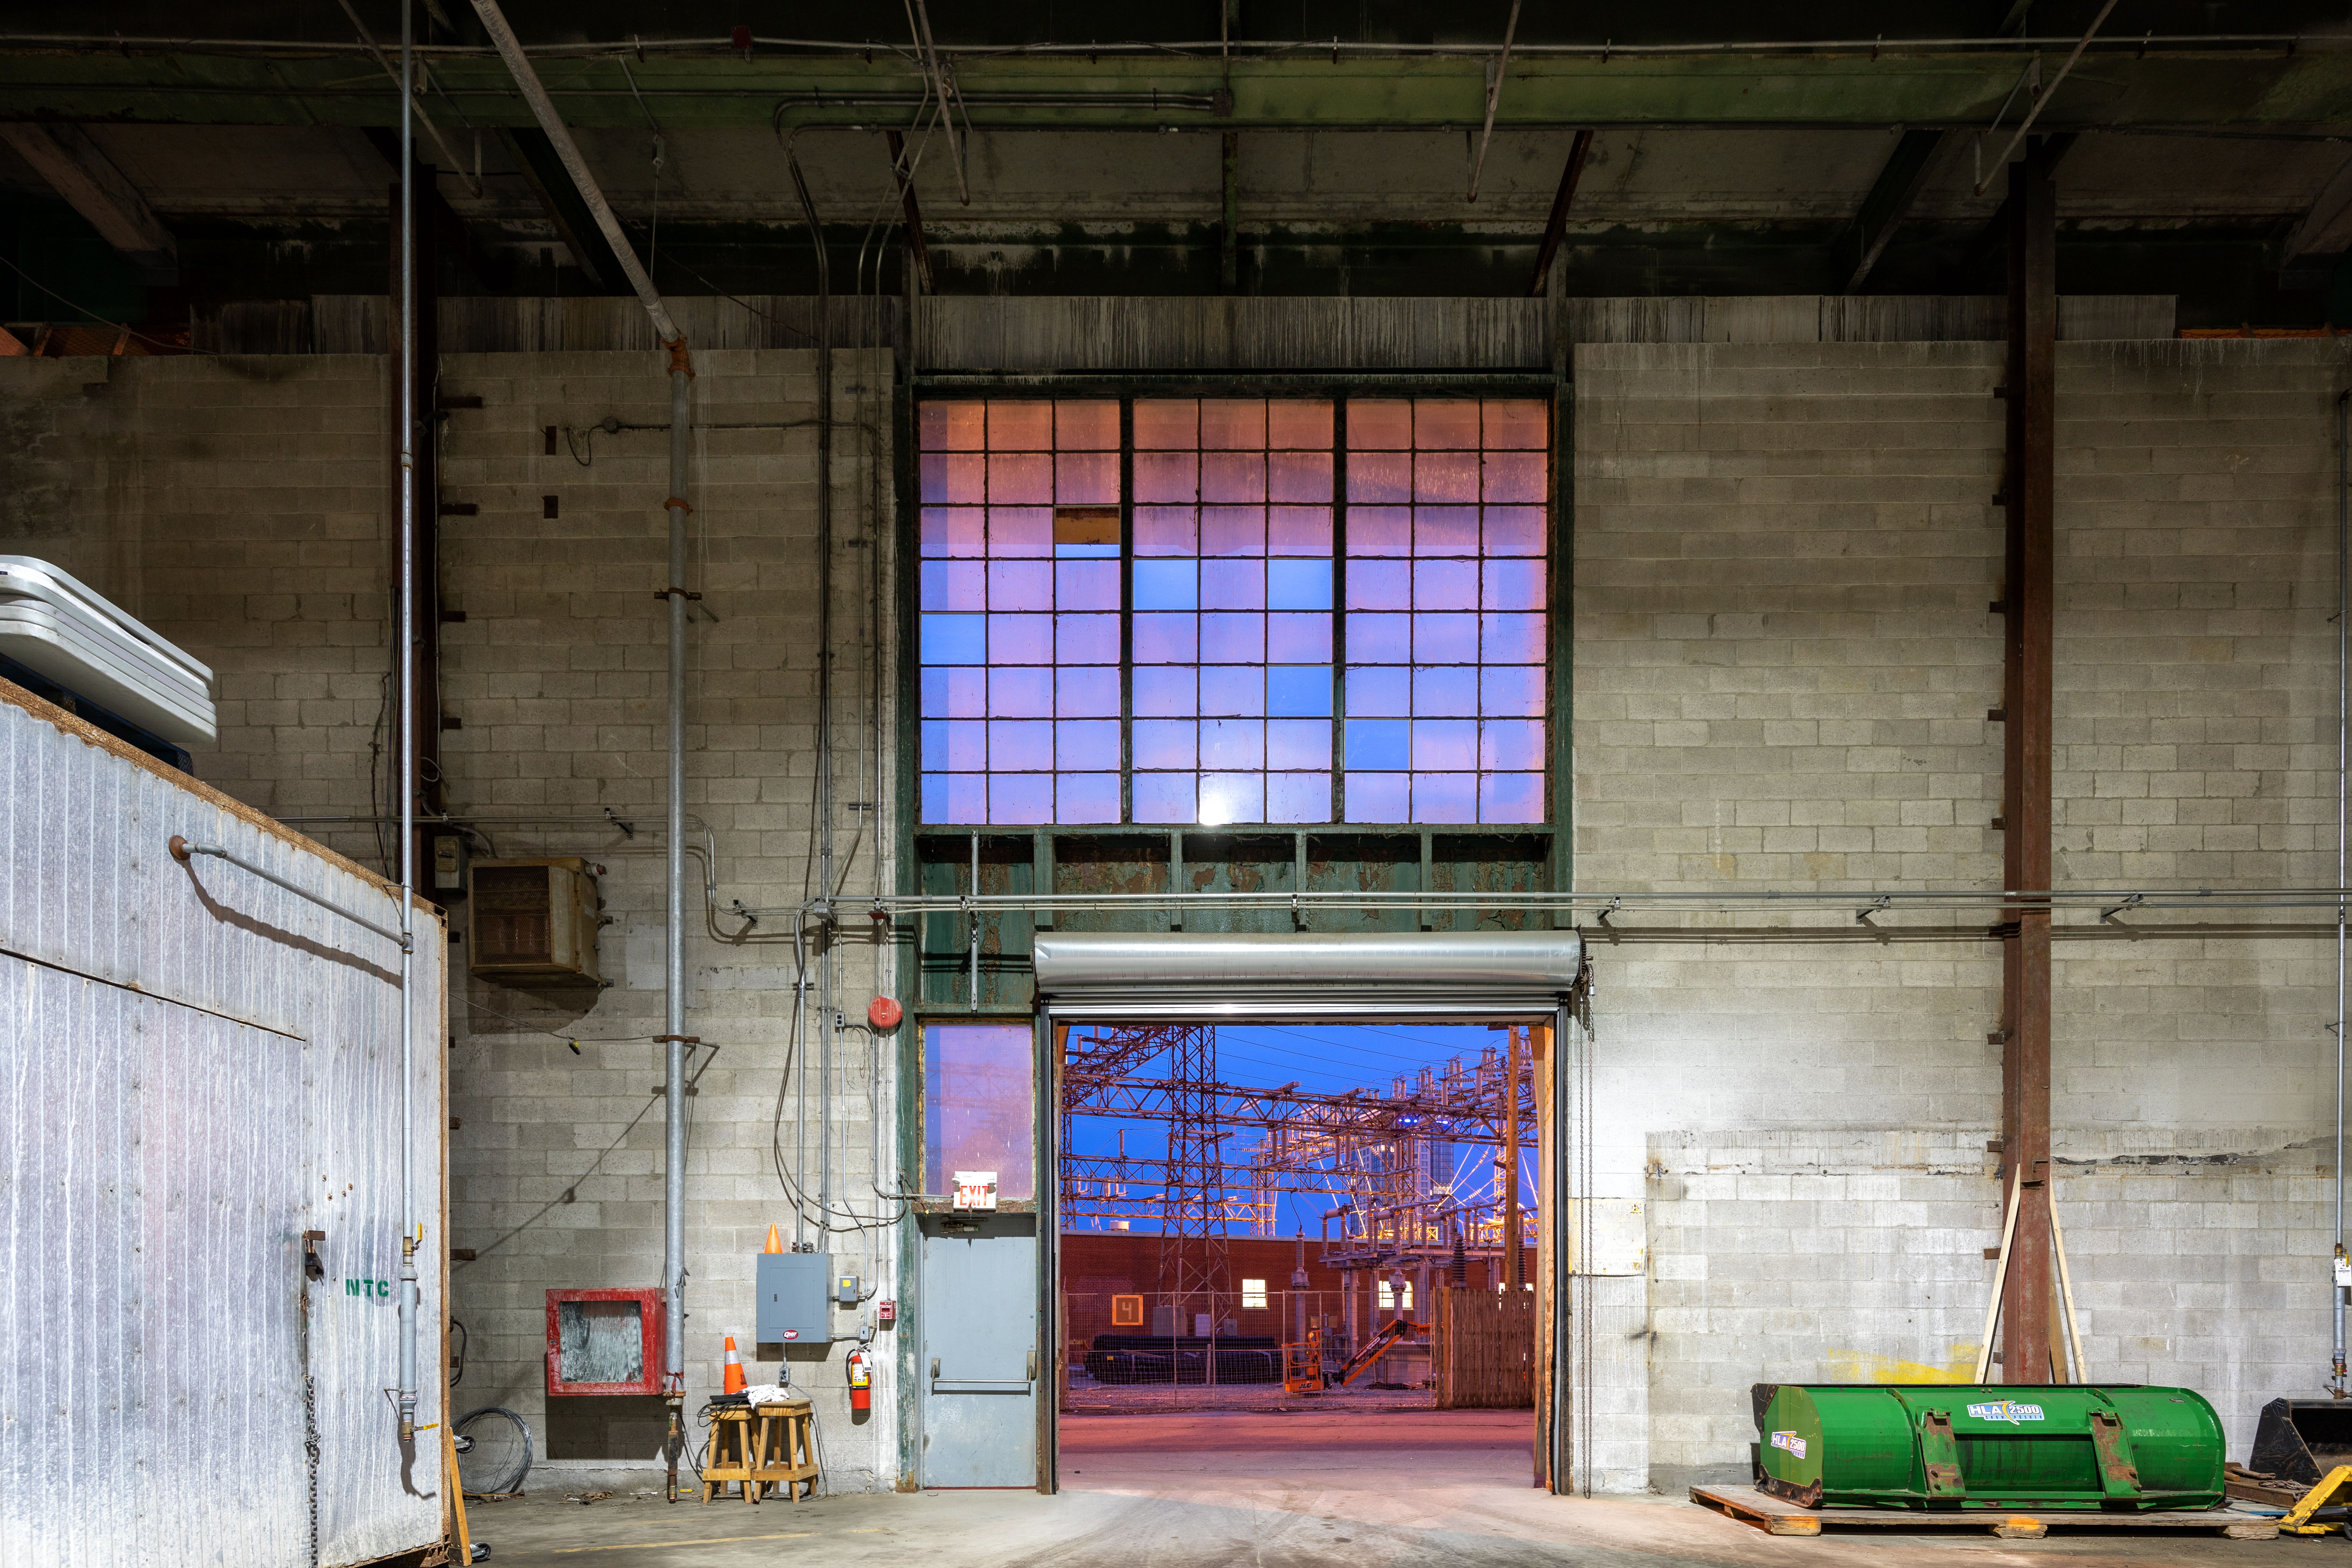
M 1578 886 L 1999 886 L 1999 346 L 1590 346 L 1576 371 Z M 2343 381 L 2336 343 L 2060 346 L 2058 886 L 2333 882 Z M 1653 931 L 1595 954 L 1595 1192 L 1649 1199 L 1651 1262 L 1590 1326 L 1646 1345 L 1595 1373 L 1595 1483 L 1745 1474 L 1757 1380 L 1966 1375 L 1999 950 L 1616 924 Z M 2204 1389 L 2241 1455 L 2326 1373 L 2333 952 L 2082 917 L 2053 976 L 2091 1371 Z

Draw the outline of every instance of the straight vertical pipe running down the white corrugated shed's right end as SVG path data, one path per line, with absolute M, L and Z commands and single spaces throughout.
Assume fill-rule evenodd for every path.
M 416 7 L 400 0 L 400 1441 L 416 1441 Z

